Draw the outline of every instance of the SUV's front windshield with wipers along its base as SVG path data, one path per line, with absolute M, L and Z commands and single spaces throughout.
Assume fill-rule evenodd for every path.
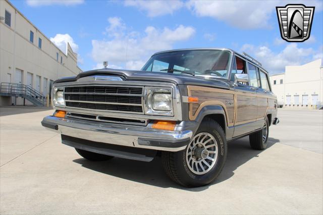
M 227 77 L 230 51 L 179 50 L 152 56 L 142 71 Z

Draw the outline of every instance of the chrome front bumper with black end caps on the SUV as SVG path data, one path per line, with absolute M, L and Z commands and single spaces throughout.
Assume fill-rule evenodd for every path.
M 146 148 L 163 151 L 180 151 L 186 148 L 193 132 L 155 130 L 143 126 L 91 122 L 47 116 L 42 126 L 60 134 L 94 142 Z

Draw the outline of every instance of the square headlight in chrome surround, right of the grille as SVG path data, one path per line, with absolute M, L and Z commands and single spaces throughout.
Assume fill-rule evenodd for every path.
M 147 115 L 174 116 L 172 88 L 145 87 L 144 110 Z

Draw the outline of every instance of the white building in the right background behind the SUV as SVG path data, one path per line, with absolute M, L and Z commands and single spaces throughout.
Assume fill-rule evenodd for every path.
M 286 66 L 285 73 L 270 76 L 282 108 L 318 109 L 323 104 L 322 61 Z

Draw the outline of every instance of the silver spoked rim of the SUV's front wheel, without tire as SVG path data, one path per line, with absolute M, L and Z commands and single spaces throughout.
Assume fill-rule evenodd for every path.
M 193 137 L 186 149 L 186 163 L 190 171 L 203 175 L 210 171 L 218 158 L 218 144 L 209 133 L 202 132 Z

